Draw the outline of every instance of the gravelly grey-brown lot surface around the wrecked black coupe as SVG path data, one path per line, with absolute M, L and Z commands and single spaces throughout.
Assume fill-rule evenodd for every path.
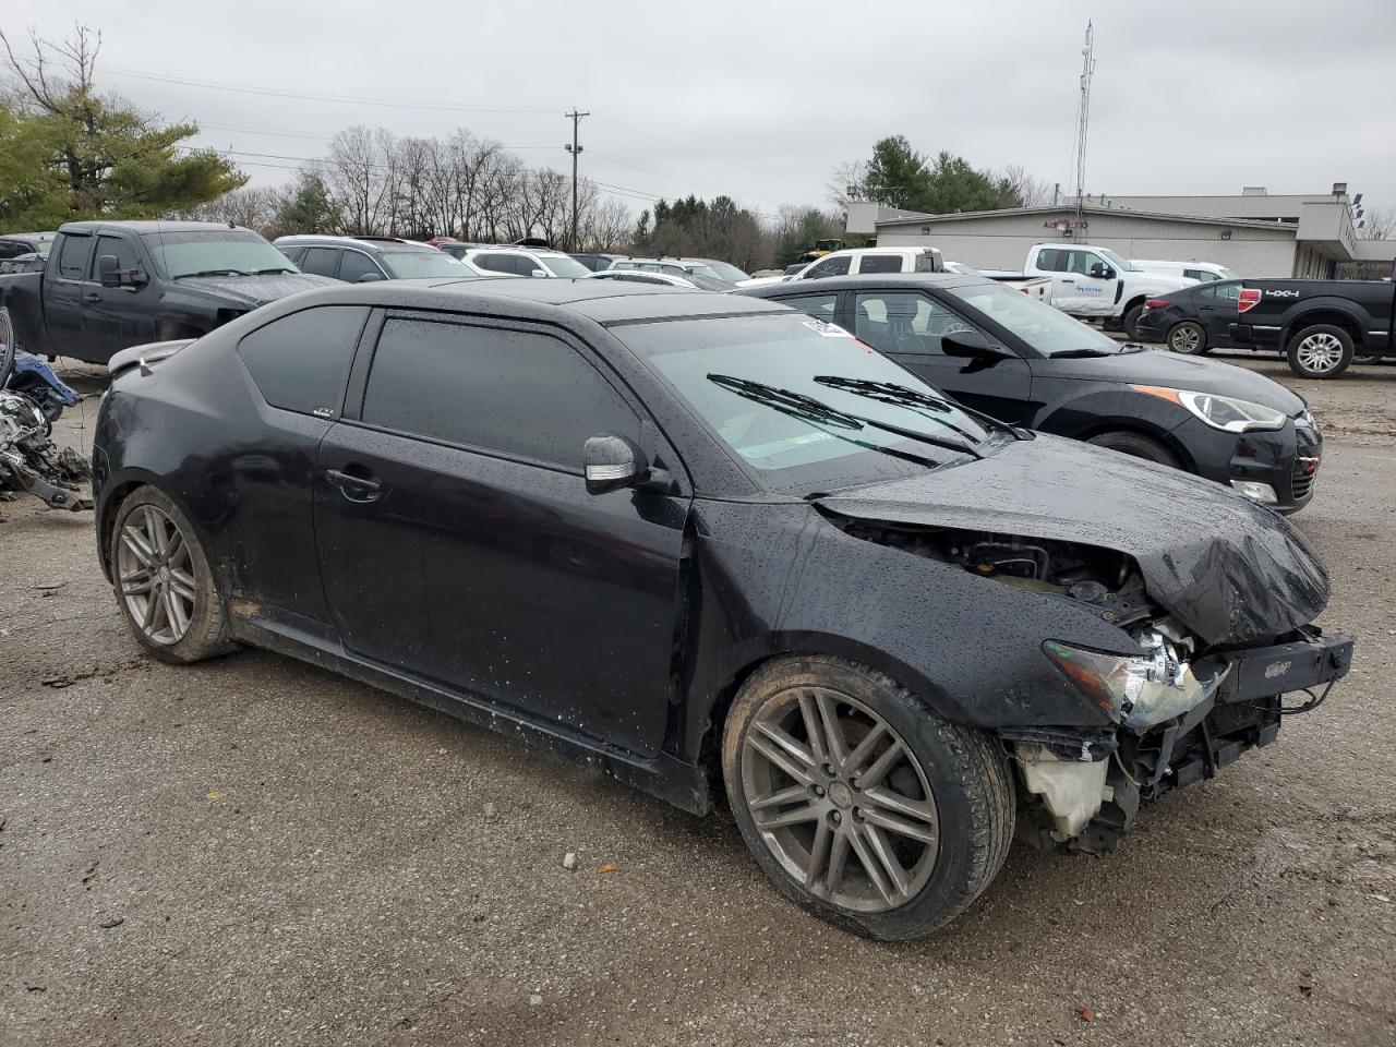
M 1329 438 L 1295 522 L 1351 676 L 913 945 L 793 909 L 725 818 L 290 659 L 142 658 L 89 519 L 0 505 L 0 1044 L 1396 1043 L 1396 367 L 1242 362 Z

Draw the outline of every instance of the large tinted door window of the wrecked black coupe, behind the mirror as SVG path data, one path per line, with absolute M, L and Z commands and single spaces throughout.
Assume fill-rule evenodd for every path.
M 363 420 L 581 469 L 599 433 L 639 436 L 639 420 L 572 346 L 530 331 L 388 320 Z

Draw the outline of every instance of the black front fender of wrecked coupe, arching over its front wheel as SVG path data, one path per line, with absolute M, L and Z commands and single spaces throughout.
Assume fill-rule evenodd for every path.
M 1064 677 L 1041 671 L 1043 638 L 1138 651 L 1093 614 L 852 537 L 808 503 L 697 501 L 694 515 L 699 581 L 681 659 L 691 673 L 680 681 L 684 723 L 674 755 L 681 759 L 698 758 L 733 684 L 772 655 L 863 662 L 958 723 L 1090 727 L 1103 726 L 1104 713 Z M 772 526 L 780 540 L 751 544 Z

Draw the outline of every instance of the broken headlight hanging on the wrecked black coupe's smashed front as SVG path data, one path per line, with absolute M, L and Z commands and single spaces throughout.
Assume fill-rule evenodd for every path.
M 1199 681 L 1167 638 L 1150 630 L 1138 639 L 1143 655 L 1107 655 L 1055 639 L 1043 642 L 1043 653 L 1082 695 L 1132 730 L 1171 720 L 1206 699 L 1215 681 Z

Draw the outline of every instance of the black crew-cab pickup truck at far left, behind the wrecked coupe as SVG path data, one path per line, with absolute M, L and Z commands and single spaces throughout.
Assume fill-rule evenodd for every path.
M 200 338 L 258 306 L 335 286 L 251 229 L 216 222 L 68 222 L 40 272 L 0 276 L 15 341 L 106 363 L 145 342 Z

